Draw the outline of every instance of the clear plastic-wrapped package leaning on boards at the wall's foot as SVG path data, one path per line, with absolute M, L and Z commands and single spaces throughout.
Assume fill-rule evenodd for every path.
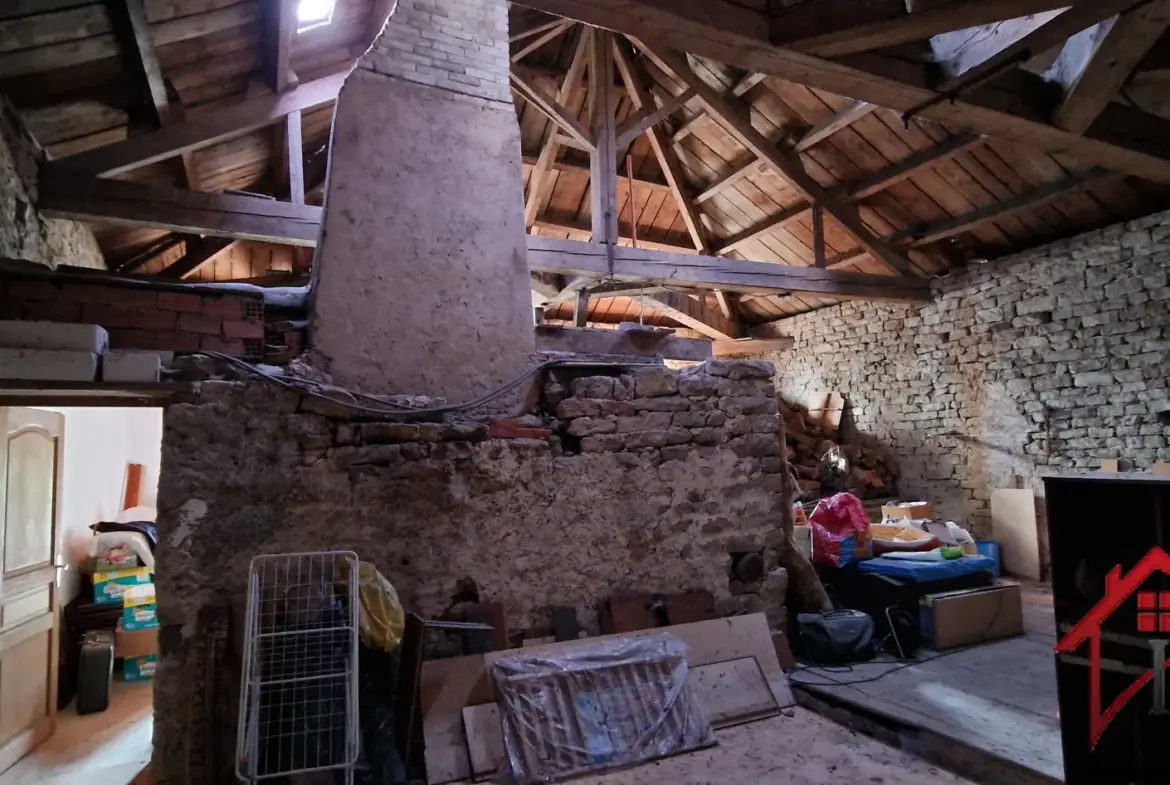
M 551 783 L 715 743 L 687 683 L 687 647 L 651 635 L 493 666 L 515 781 Z

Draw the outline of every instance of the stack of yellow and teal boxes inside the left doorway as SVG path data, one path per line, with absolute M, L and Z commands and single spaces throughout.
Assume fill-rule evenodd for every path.
M 123 679 L 152 679 L 158 657 L 158 607 L 150 569 L 95 572 L 94 601 L 122 605 L 122 618 L 113 635 L 113 656 L 123 661 Z

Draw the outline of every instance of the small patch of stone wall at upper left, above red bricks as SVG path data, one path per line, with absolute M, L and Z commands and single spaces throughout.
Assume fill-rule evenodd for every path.
M 0 109 L 0 257 L 105 269 L 88 226 L 36 212 L 36 150 L 14 113 Z

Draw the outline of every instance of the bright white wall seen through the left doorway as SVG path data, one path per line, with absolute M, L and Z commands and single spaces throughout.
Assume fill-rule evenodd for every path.
M 50 407 L 41 407 L 50 408 Z M 61 488 L 61 604 L 77 595 L 77 567 L 92 532 L 89 525 L 122 511 L 126 464 L 142 463 L 142 504 L 154 507 L 163 449 L 161 408 L 53 407 L 66 415 Z

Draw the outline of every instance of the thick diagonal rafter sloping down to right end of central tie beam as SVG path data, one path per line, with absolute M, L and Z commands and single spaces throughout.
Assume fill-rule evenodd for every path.
M 887 264 L 893 271 L 903 275 L 913 274 L 910 263 L 901 254 L 895 252 L 881 239 L 875 236 L 861 222 L 861 215 L 856 207 L 847 204 L 828 190 L 824 188 L 804 170 L 804 165 L 796 153 L 777 149 L 769 139 L 737 117 L 737 112 L 731 109 L 727 99 L 708 87 L 695 76 L 687 64 L 687 61 L 676 53 L 668 50 L 654 50 L 644 46 L 646 54 L 652 57 L 660 68 L 669 70 L 684 84 L 693 88 L 698 99 L 707 104 L 708 111 L 722 124 L 744 147 L 752 154 L 768 163 L 777 174 L 787 180 L 792 187 L 810 202 L 821 205 L 825 211 L 833 216 L 845 229 L 856 237 L 875 259 Z

